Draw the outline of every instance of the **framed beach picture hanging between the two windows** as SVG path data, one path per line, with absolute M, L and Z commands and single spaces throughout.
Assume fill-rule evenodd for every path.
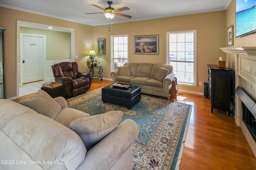
M 158 35 L 134 36 L 134 54 L 158 54 Z

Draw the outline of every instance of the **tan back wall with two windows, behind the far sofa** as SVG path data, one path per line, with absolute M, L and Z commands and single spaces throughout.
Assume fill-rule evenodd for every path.
M 118 16 L 117 16 L 118 17 Z M 197 84 L 208 82 L 207 64 L 216 64 L 219 57 L 225 54 L 219 49 L 224 47 L 226 36 L 226 12 L 209 12 L 187 16 L 161 18 L 127 22 L 119 24 L 94 26 L 93 43 L 96 47 L 96 39 L 106 39 L 106 55 L 102 55 L 104 61 L 104 78 L 110 76 L 110 35 L 128 34 L 129 36 L 129 62 L 137 63 L 166 63 L 166 32 L 197 30 Z M 159 55 L 134 54 L 134 35 L 159 35 Z M 180 91 L 203 94 L 204 86 L 182 86 Z

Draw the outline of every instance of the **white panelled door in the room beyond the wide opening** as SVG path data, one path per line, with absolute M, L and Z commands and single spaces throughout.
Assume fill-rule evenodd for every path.
M 44 80 L 45 35 L 20 34 L 20 84 Z

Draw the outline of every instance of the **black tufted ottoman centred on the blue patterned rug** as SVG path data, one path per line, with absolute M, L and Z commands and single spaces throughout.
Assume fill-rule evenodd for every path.
M 140 102 L 141 92 L 139 86 L 132 86 L 128 89 L 112 87 L 112 85 L 102 88 L 102 101 L 103 103 L 109 102 L 126 106 L 128 109 Z

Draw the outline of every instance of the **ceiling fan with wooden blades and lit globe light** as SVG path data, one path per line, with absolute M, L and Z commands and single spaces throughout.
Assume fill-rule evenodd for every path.
M 128 16 L 128 15 L 125 15 L 125 14 L 120 14 L 118 12 L 120 11 L 125 11 L 125 10 L 130 10 L 128 7 L 124 7 L 124 8 L 119 8 L 119 9 L 114 9 L 112 8 L 110 5 L 113 3 L 112 1 L 108 1 L 107 2 L 109 4 L 109 7 L 107 8 L 101 8 L 97 5 L 92 5 L 92 6 L 95 6 L 97 8 L 100 8 L 101 10 L 104 10 L 104 12 L 96 12 L 96 13 L 87 13 L 87 14 L 104 14 L 105 17 L 108 19 L 108 20 L 111 20 L 113 19 L 116 15 L 118 16 L 122 16 L 122 17 L 126 17 L 126 18 L 132 18 L 132 16 Z

